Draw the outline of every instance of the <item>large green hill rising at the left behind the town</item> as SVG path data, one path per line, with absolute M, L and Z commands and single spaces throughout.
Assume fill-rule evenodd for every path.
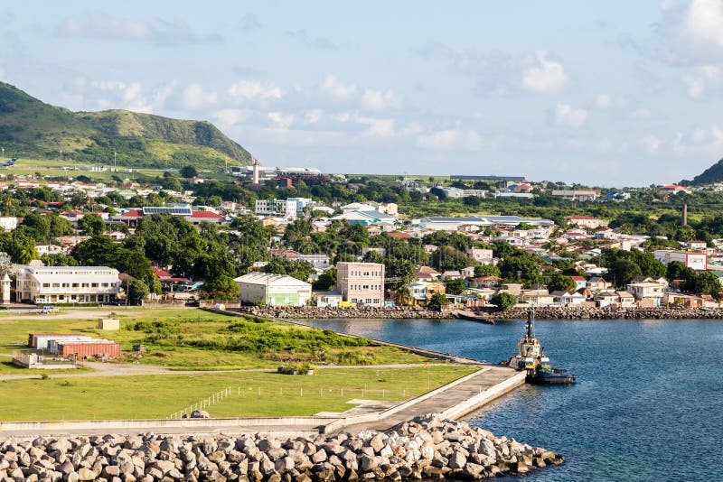
M 0 82 L 0 145 L 5 154 L 128 167 L 248 165 L 251 154 L 209 122 L 127 110 L 71 112 Z

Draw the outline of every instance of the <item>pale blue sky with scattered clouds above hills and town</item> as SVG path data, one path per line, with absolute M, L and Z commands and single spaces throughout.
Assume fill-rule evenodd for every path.
M 26 0 L 0 79 L 268 166 L 647 186 L 723 157 L 723 0 Z

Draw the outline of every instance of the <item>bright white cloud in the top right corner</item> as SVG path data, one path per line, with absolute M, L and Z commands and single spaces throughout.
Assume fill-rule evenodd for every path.
M 723 60 L 721 0 L 690 0 L 685 4 L 664 4 L 662 15 L 662 22 L 656 27 L 662 44 L 662 60 L 675 64 Z

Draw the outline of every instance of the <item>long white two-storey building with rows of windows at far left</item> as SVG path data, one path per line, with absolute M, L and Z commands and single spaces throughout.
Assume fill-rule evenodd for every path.
M 116 299 L 118 271 L 108 266 L 20 266 L 16 301 L 92 303 Z

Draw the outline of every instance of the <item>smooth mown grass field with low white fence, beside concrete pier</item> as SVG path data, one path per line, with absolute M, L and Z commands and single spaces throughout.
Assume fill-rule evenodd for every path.
M 228 387 L 229 397 L 205 409 L 212 417 L 343 412 L 352 408 L 347 402 L 353 398 L 401 401 L 472 371 L 417 366 L 325 368 L 314 376 L 239 372 L 12 380 L 0 382 L 0 420 L 166 418 Z

